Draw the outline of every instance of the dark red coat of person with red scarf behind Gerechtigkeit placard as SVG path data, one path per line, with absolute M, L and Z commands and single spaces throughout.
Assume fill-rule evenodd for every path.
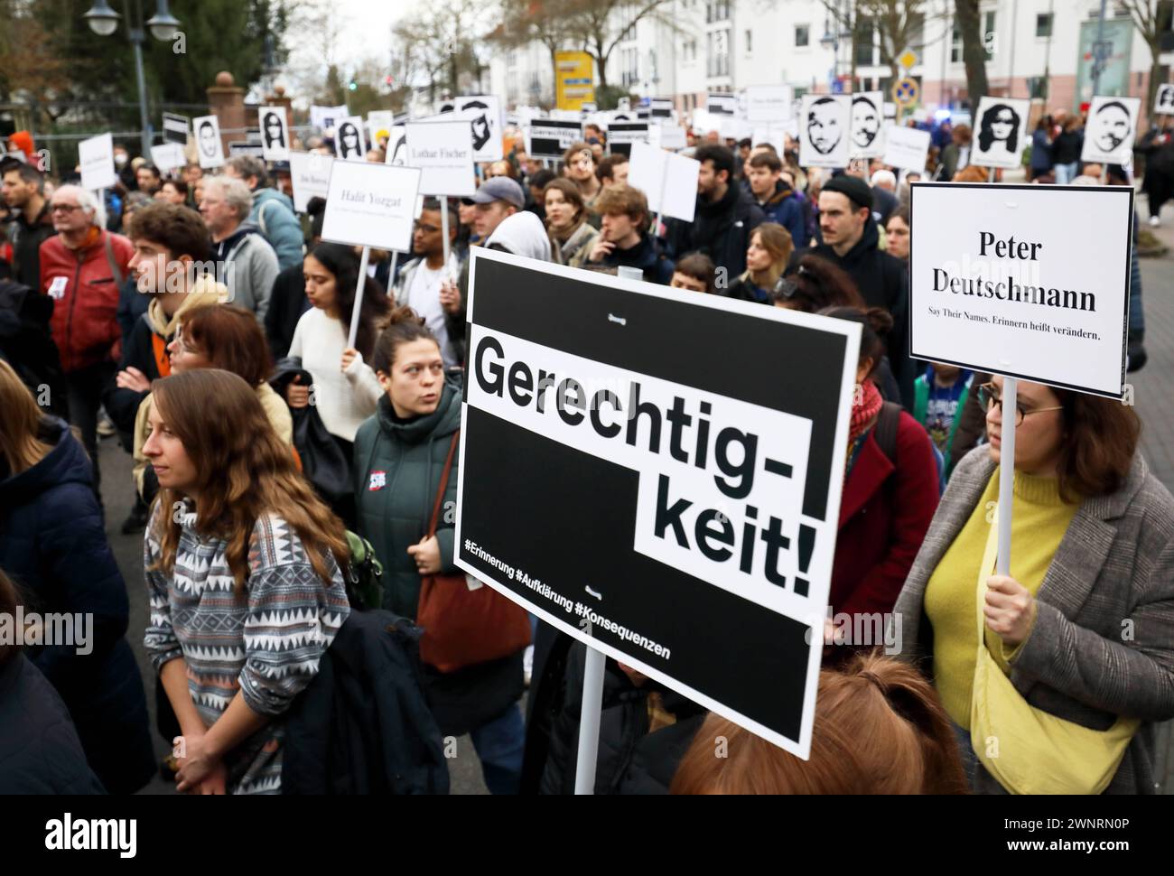
M 938 507 L 938 466 L 930 438 L 904 411 L 897 465 L 869 432 L 839 504 L 831 567 L 835 614 L 891 612 Z

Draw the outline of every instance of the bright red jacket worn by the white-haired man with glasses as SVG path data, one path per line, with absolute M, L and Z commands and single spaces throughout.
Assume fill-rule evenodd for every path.
M 60 235 L 41 244 L 41 292 L 56 299 L 49 329 L 61 353 L 62 371 L 112 359 L 122 336 L 115 318 L 120 283 L 107 256 L 107 237 L 113 262 L 126 279 L 134 245 L 122 235 L 102 230 L 81 250 L 66 247 Z

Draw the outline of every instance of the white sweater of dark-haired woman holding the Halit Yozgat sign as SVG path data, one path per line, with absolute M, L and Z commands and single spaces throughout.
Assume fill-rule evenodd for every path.
M 362 353 L 343 371 L 346 330 L 324 310 L 311 308 L 297 321 L 289 355 L 301 357 L 313 377 L 313 404 L 326 431 L 353 442 L 363 420 L 375 413 L 383 388 Z

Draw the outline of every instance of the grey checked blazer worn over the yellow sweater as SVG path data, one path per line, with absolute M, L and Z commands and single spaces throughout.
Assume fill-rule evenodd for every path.
M 925 587 L 994 469 L 986 446 L 958 464 L 893 608 L 902 655 L 926 676 Z M 1037 601 L 1031 635 L 1011 661 L 1016 689 L 1035 708 L 1099 730 L 1118 715 L 1141 719 L 1106 793 L 1154 793 L 1154 725 L 1174 717 L 1174 497 L 1140 453 L 1120 490 L 1081 503 Z M 977 786 L 1003 791 L 981 764 Z

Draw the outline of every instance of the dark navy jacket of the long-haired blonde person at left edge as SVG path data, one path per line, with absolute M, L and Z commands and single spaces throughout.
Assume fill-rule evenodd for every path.
M 19 474 L 0 471 L 0 567 L 26 595 L 26 612 L 92 615 L 90 653 L 55 643 L 26 654 L 65 700 L 102 784 L 130 793 L 150 779 L 155 757 L 142 676 L 124 635 L 127 586 L 81 444 L 59 419 L 46 418 L 40 438 L 53 447 L 40 463 Z

